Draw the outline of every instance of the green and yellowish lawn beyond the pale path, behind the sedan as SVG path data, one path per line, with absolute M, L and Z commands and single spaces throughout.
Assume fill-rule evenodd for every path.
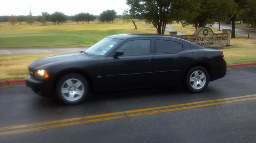
M 132 22 L 76 24 L 42 26 L 41 23 L 15 24 L 0 22 L 0 48 L 19 47 L 78 47 L 91 46 L 97 41 L 115 34 L 156 33 L 152 24 L 136 21 L 138 30 Z

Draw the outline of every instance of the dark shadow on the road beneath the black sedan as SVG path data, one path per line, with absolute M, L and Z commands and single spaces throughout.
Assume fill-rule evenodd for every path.
M 198 100 L 212 99 L 212 95 L 218 95 L 219 92 L 212 87 L 208 87 L 204 92 L 192 94 L 186 89 L 179 86 L 146 88 L 109 91 L 91 94 L 86 101 L 78 105 L 67 106 L 60 103 L 56 98 L 38 97 L 36 105 L 47 107 L 103 107 L 108 104 L 117 106 L 135 106 L 135 104 L 152 104 L 162 103 L 163 105 L 173 102 L 184 103 Z M 218 97 L 218 96 L 217 96 Z

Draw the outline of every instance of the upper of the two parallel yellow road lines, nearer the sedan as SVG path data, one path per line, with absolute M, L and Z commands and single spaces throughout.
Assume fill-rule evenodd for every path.
M 195 104 L 208 103 L 208 102 L 218 102 L 218 101 L 225 101 L 225 100 L 232 100 L 232 99 L 239 99 L 239 98 L 247 98 L 247 97 L 253 97 L 253 96 L 256 96 L 256 94 L 230 97 L 230 98 L 223 98 L 223 99 L 215 99 L 215 100 L 198 101 L 198 102 L 191 102 L 191 103 L 183 103 L 183 104 L 176 104 L 176 105 L 167 105 L 167 106 L 159 106 L 159 107 L 152 107 L 152 108 L 144 108 L 144 109 L 137 109 L 137 110 L 128 110 L 128 111 L 120 111 L 120 112 L 113 112 L 113 113 L 105 113 L 105 114 L 101 114 L 101 115 L 83 116 L 83 117 L 62 119 L 62 120 L 54 120 L 54 121 L 48 121 L 48 122 L 24 124 L 24 125 L 17 125 L 17 126 L 8 126 L 8 127 L 0 128 L 0 131 L 1 130 L 9 130 L 9 129 L 17 129 L 17 128 L 25 128 L 25 127 L 31 127 L 31 126 L 42 126 L 42 125 L 48 125 L 48 124 L 71 122 L 71 121 L 78 121 L 78 120 L 85 120 L 85 119 L 92 119 L 92 118 L 100 118 L 100 117 L 107 117 L 107 116 L 123 115 L 124 113 L 129 114 L 129 113 L 149 111 L 149 110 L 157 110 L 157 109 L 164 109 L 164 108 L 171 108 L 171 107 L 179 107 L 179 106 L 195 105 Z

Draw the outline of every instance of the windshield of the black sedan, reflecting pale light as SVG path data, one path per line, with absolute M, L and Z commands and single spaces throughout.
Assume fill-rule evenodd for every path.
M 86 50 L 84 53 L 89 55 L 97 55 L 97 56 L 104 56 L 106 52 L 108 52 L 111 48 L 113 48 L 120 39 L 115 38 L 105 38 L 95 45 L 93 45 L 91 48 Z

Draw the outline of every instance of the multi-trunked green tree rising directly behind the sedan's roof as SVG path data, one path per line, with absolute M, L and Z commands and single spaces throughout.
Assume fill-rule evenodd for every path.
M 136 15 L 151 21 L 158 34 L 164 34 L 166 24 L 183 19 L 184 8 L 191 9 L 186 16 L 194 13 L 196 8 L 193 8 L 194 5 L 189 5 L 191 3 L 192 0 L 126 0 L 126 4 Z M 193 3 L 197 4 L 198 1 Z

